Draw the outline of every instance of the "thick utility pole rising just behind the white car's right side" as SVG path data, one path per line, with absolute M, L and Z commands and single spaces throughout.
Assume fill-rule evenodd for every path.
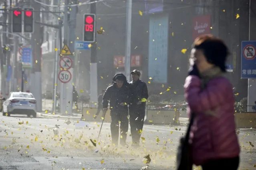
M 40 1 L 40 0 L 38 0 Z M 35 11 L 40 11 L 40 4 L 36 2 L 32 2 L 32 7 Z M 40 12 L 34 12 L 34 20 L 40 21 Z M 42 76 L 41 76 L 41 35 L 40 33 L 40 25 L 35 24 L 34 25 L 34 33 L 32 35 L 32 41 L 33 42 L 33 54 L 34 54 L 34 80 L 31 79 L 31 81 L 34 81 L 34 90 L 33 95 L 36 99 L 36 109 L 38 112 L 42 111 Z M 32 78 L 32 77 L 31 77 Z

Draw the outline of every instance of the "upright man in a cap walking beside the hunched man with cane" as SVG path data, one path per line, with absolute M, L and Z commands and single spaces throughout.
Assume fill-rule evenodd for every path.
M 147 85 L 139 77 L 138 70 L 131 71 L 133 81 L 130 82 L 132 93 L 131 105 L 129 105 L 131 137 L 135 147 L 139 146 L 141 130 L 144 125 L 146 99 L 148 98 Z

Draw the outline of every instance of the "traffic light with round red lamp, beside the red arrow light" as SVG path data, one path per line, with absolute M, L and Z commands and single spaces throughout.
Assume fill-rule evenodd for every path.
M 34 9 L 24 8 L 24 32 L 34 32 Z

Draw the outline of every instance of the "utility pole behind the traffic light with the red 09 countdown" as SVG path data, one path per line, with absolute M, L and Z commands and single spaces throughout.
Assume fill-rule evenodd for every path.
M 91 0 L 91 14 L 96 16 L 96 3 Z M 96 19 L 96 18 L 95 18 Z M 96 23 L 95 23 L 96 24 Z M 96 28 L 96 25 L 94 26 Z M 91 65 L 90 65 L 90 102 L 98 101 L 98 68 L 97 68 L 97 38 L 95 34 L 95 42 L 91 43 Z

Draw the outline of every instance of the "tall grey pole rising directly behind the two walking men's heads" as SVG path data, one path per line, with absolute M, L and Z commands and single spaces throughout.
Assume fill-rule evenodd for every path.
M 132 14 L 132 0 L 127 0 L 126 6 L 126 47 L 125 47 L 125 76 L 130 82 L 130 68 L 131 68 L 131 14 Z

